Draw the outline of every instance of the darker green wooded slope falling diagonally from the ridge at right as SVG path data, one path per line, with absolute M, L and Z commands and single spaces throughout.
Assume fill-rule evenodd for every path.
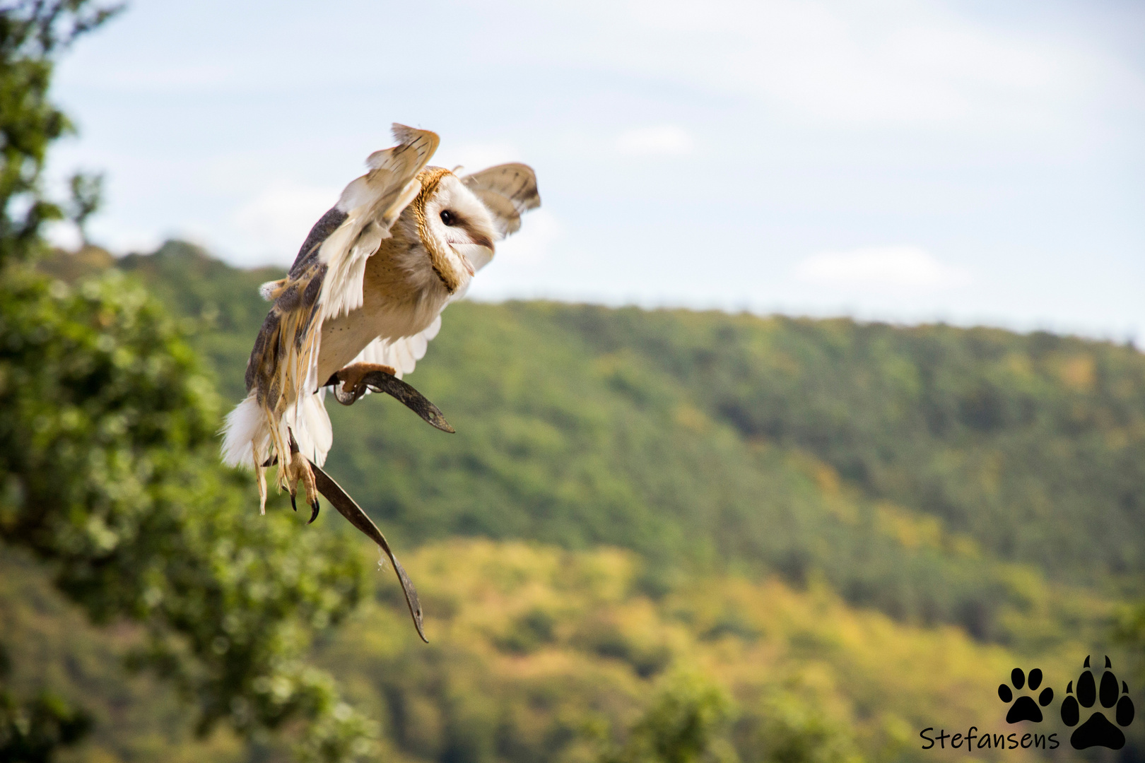
M 524 305 L 519 308 L 527 310 Z M 552 305 L 744 438 L 1066 580 L 1145 571 L 1145 358 L 995 328 Z M 1130 540 L 1132 539 L 1132 540 Z

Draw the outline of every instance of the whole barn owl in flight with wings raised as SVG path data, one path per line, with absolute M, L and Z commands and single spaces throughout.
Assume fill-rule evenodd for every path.
M 428 167 L 437 135 L 393 129 L 397 145 L 370 154 L 369 172 L 314 225 L 286 278 L 261 288 L 274 307 L 246 365 L 246 398 L 227 416 L 222 456 L 254 469 L 263 511 L 264 470 L 276 464 L 278 486 L 293 502 L 301 482 L 317 516 L 309 462 L 321 467 L 333 444 L 326 387 L 356 399 L 366 374 L 413 371 L 445 305 L 540 206 L 528 166 Z

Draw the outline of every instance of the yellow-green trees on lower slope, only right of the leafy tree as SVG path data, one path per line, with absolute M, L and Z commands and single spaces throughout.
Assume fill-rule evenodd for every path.
M 932 760 L 918 749 L 926 726 L 1013 730 L 996 692 L 1024 658 L 851 609 L 821 585 L 712 577 L 652 598 L 629 551 L 482 540 L 434 543 L 405 565 L 431 644 L 379 578 L 381 599 L 322 653 L 382 720 L 388 760 L 634 760 L 625 732 L 681 675 L 729 698 L 725 747 L 712 747 L 744 763 Z M 1076 653 L 1043 657 L 1064 691 Z

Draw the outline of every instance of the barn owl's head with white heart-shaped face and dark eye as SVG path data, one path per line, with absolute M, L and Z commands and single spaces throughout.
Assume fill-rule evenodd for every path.
M 421 192 L 410 205 L 418 238 L 434 273 L 455 294 L 492 257 L 498 229 L 485 205 L 453 173 L 426 167 L 418 180 Z

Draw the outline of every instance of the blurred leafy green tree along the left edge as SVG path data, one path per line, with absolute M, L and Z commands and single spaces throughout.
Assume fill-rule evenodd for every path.
M 303 757 L 348 760 L 366 724 L 303 658 L 358 598 L 355 547 L 252 514 L 246 480 L 218 467 L 213 386 L 145 292 L 117 272 L 72 288 L 29 264 L 57 214 L 40 170 L 68 128 L 47 100 L 52 59 L 111 13 L 0 9 L 0 541 L 49 565 L 95 622 L 141 623 L 134 662 L 174 682 L 200 732 L 226 721 L 254 738 L 297 720 Z M 50 694 L 6 694 L 3 712 L 24 755 L 82 731 Z

